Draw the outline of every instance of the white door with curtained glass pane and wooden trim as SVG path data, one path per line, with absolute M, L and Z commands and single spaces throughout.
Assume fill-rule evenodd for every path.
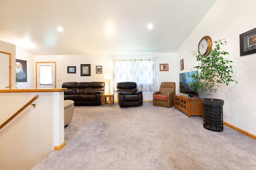
M 56 62 L 36 62 L 36 88 L 56 88 Z

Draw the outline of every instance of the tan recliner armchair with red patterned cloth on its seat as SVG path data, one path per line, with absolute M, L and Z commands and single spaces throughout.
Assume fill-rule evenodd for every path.
M 174 106 L 175 82 L 162 82 L 160 91 L 153 93 L 153 105 L 161 107 Z

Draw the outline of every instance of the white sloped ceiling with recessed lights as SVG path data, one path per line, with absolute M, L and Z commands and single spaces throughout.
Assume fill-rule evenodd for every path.
M 0 39 L 32 55 L 176 52 L 214 2 L 1 0 Z

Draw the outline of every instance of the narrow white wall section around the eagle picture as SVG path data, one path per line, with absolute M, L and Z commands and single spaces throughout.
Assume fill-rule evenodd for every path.
M 34 56 L 18 47 L 16 47 L 16 59 L 27 61 L 27 82 L 16 82 L 16 88 L 28 89 L 34 88 Z

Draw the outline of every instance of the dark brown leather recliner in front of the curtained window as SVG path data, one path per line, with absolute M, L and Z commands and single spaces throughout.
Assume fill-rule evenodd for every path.
M 143 102 L 142 91 L 137 90 L 135 82 L 116 83 L 118 105 L 120 107 L 140 106 Z

